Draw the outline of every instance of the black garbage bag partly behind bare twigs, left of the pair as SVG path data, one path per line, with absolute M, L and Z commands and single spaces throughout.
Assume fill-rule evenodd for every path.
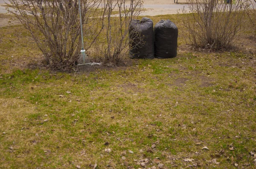
M 154 59 L 153 21 L 147 17 L 132 20 L 129 27 L 130 57 Z

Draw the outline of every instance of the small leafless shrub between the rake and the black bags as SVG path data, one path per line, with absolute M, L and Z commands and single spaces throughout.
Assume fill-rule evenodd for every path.
M 118 64 L 128 54 L 129 25 L 143 11 L 142 0 L 103 0 L 107 17 L 95 47 L 105 63 Z

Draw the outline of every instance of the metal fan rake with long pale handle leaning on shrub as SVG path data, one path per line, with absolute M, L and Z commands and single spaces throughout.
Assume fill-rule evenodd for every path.
M 93 64 L 90 62 L 89 58 L 86 55 L 86 51 L 84 49 L 84 37 L 83 37 L 83 27 L 82 27 L 83 25 L 82 25 L 82 17 L 81 17 L 81 3 L 80 3 L 80 0 L 78 2 L 79 2 L 82 49 L 81 49 L 81 54 L 80 54 L 78 62 L 77 62 L 75 74 L 79 74 L 82 72 L 91 72 L 94 70 Z

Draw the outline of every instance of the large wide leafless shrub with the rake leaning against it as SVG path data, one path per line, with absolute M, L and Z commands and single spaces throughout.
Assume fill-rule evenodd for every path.
M 46 64 L 57 69 L 72 67 L 81 50 L 78 0 L 9 1 L 14 8 L 9 12 L 30 31 Z M 87 49 L 103 30 L 105 11 L 101 0 L 81 0 L 81 7 Z

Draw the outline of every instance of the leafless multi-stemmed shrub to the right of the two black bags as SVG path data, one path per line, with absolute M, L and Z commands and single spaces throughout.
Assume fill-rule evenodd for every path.
M 183 24 L 188 31 L 188 40 L 195 48 L 219 50 L 236 45 L 243 32 L 243 23 L 248 8 L 247 0 L 222 3 L 217 0 L 187 0 L 189 14 Z M 183 14 L 186 13 L 183 8 Z

